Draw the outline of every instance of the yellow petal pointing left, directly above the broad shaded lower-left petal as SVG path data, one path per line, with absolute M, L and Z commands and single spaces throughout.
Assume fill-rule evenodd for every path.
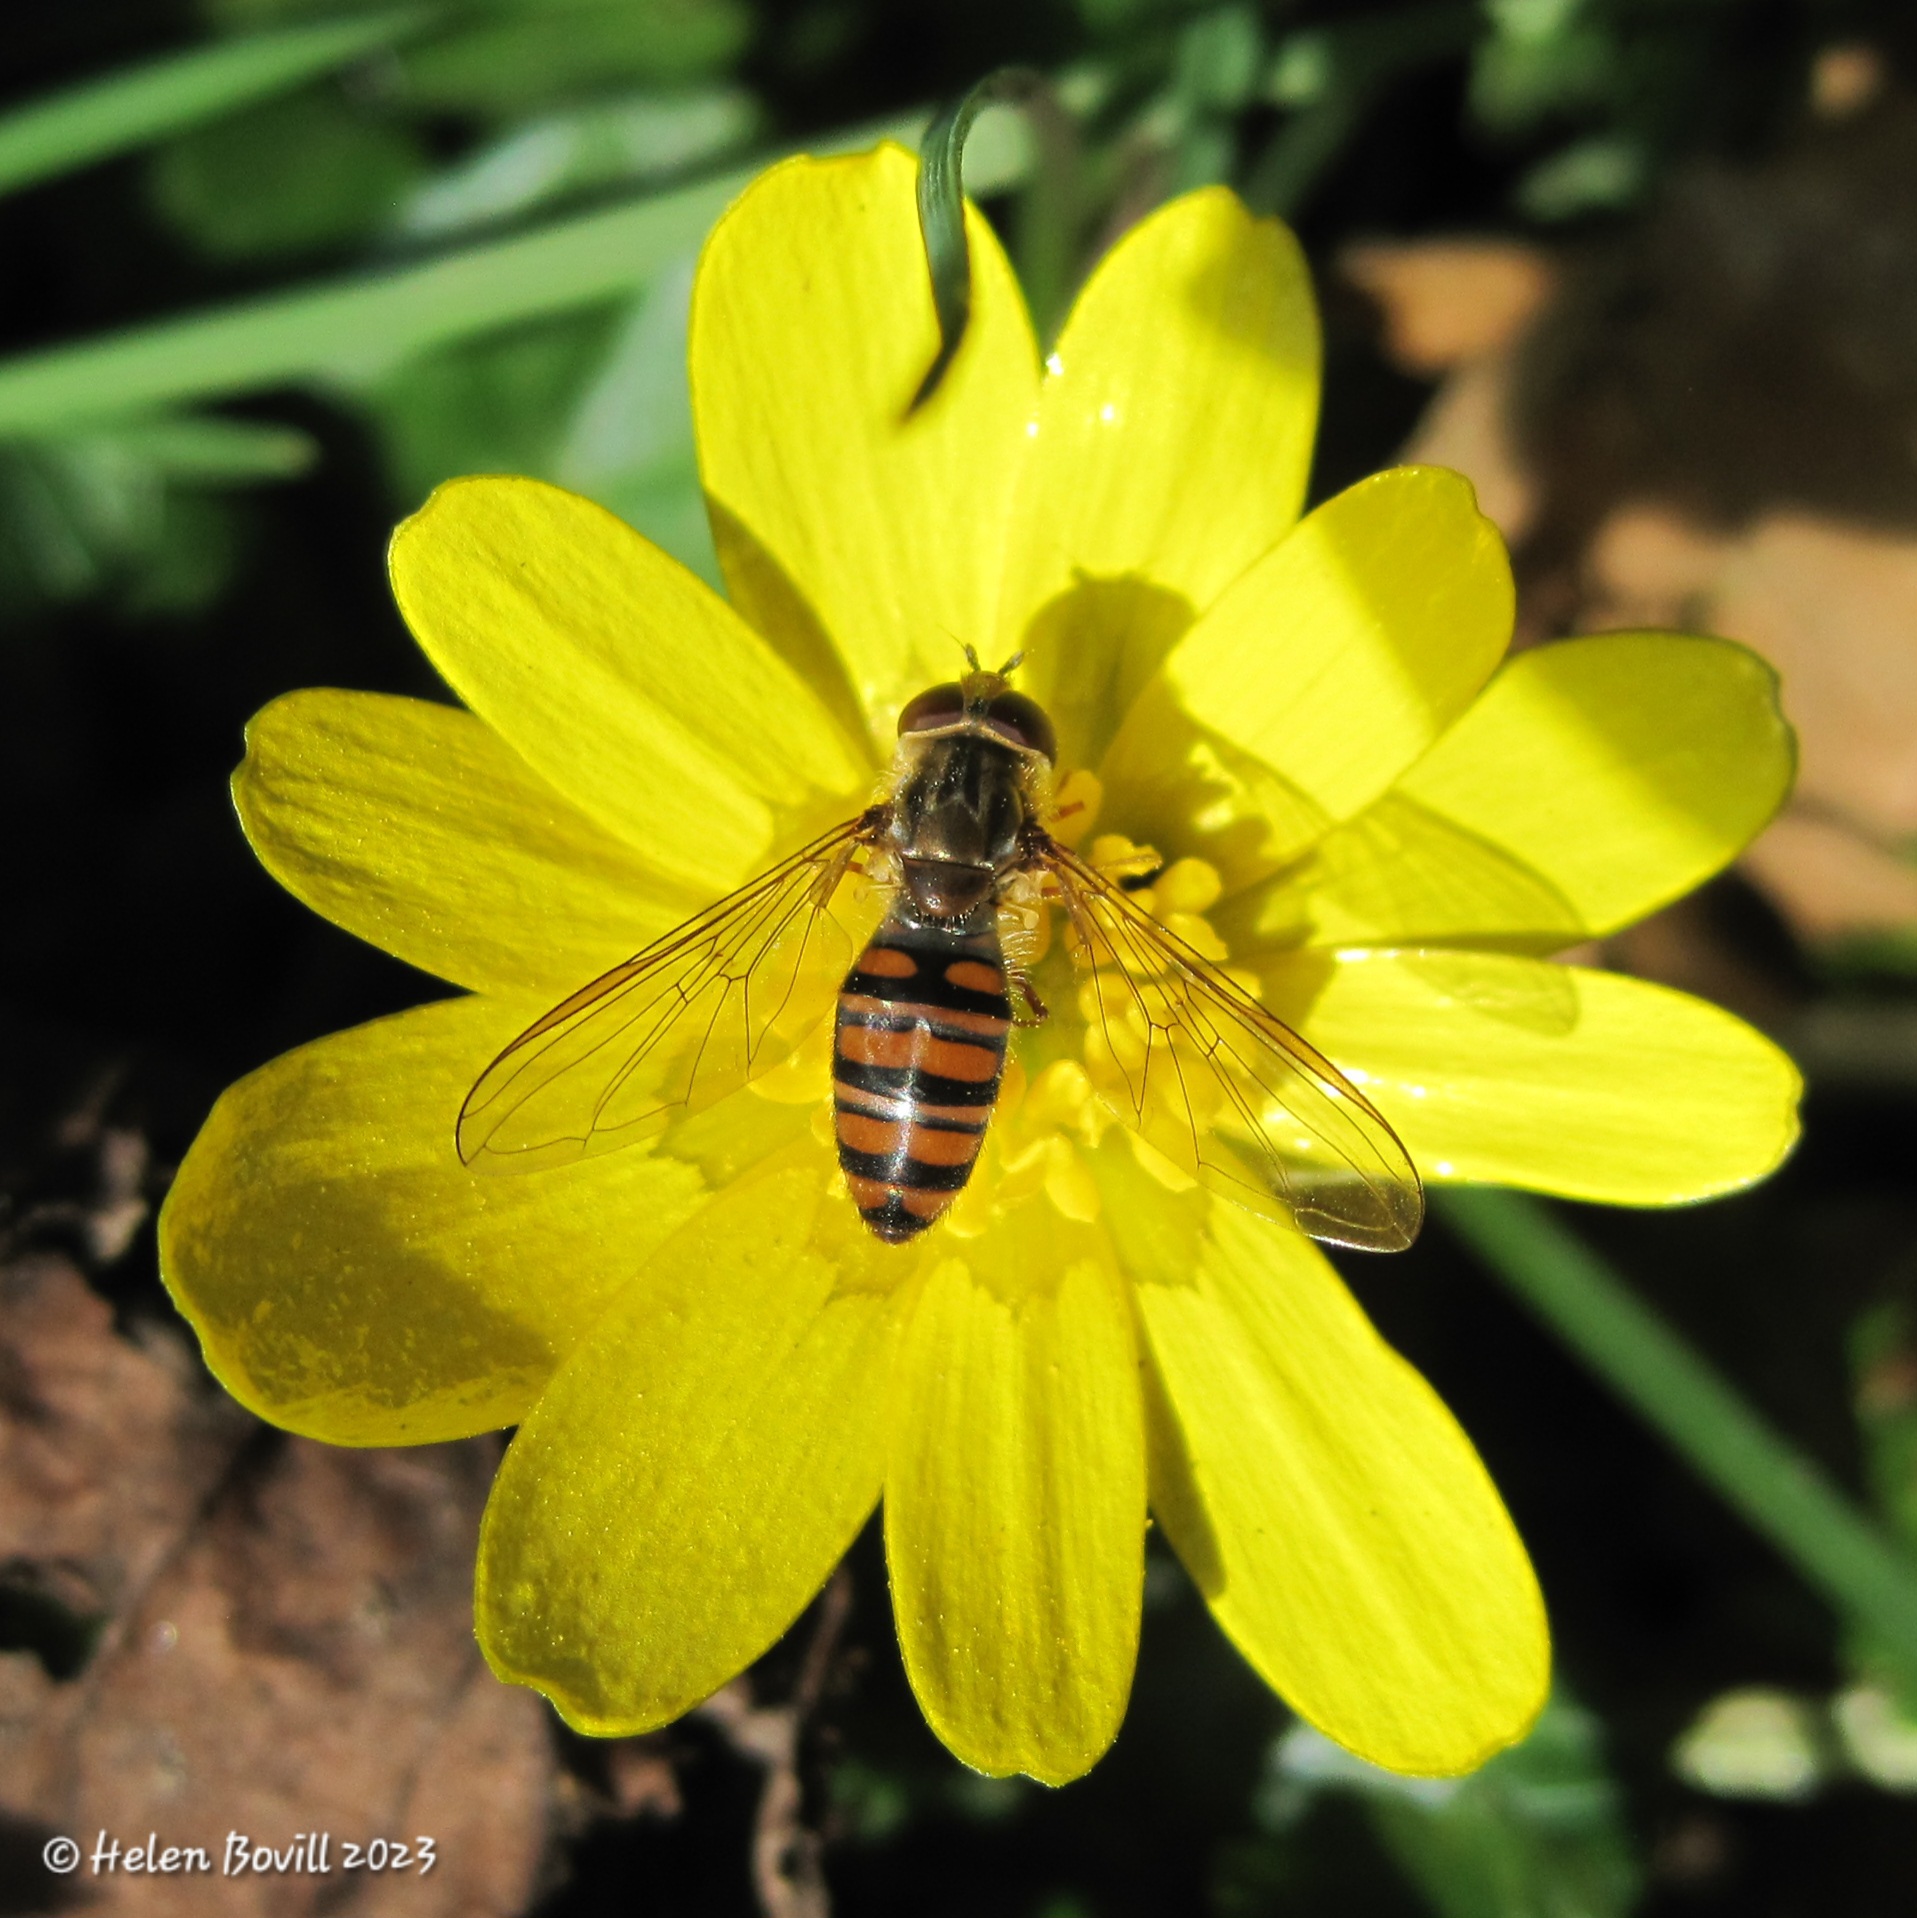
M 476 992 L 564 997 L 702 903 L 457 706 L 290 692 L 232 794 L 288 892 Z

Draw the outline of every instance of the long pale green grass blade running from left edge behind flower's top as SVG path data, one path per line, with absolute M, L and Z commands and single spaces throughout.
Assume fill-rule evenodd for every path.
M 814 142 L 913 140 L 917 119 Z M 766 161 L 416 267 L 269 293 L 0 361 L 0 435 L 48 433 L 269 386 L 353 387 L 424 347 L 612 299 L 685 257 Z

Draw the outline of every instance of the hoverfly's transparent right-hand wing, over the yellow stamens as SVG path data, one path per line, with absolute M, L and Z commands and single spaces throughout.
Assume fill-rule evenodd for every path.
M 1397 1252 L 1424 1191 L 1378 1109 L 1113 880 L 1042 855 L 1077 932 L 1088 1068 L 1148 1145 L 1238 1205 L 1314 1239 Z

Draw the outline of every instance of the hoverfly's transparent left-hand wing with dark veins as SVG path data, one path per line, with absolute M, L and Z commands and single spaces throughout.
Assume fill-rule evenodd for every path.
M 459 1157 L 530 1172 L 652 1137 L 769 1072 L 852 959 L 831 898 L 867 815 L 821 834 L 528 1026 L 459 1112 Z

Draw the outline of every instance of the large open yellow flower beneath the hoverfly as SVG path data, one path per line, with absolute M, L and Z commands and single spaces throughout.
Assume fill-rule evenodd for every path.
M 1169 861 L 1153 907 L 1428 1180 L 1669 1205 L 1788 1149 L 1798 1082 L 1762 1038 L 1545 957 L 1777 806 L 1762 664 L 1635 633 L 1499 669 L 1504 554 L 1445 472 L 1299 522 L 1311 290 L 1230 194 L 1130 232 L 1044 366 L 977 219 L 971 244 L 971 332 L 908 418 L 936 343 L 911 159 L 793 161 L 722 221 L 691 374 L 729 604 L 528 480 L 453 483 L 399 529 L 399 604 L 464 710 L 292 694 L 236 794 L 292 892 L 468 995 L 234 1086 L 165 1272 L 280 1425 L 520 1425 L 480 1632 L 583 1730 L 743 1669 L 883 1494 L 938 1736 L 1073 1778 L 1124 1711 L 1149 1506 L 1313 1724 L 1464 1770 L 1547 1684 L 1497 1492 L 1307 1239 L 1126 1143 L 1067 972 L 973 1189 L 911 1247 L 839 1185 L 817 1047 L 652 1145 L 522 1178 L 455 1157 L 466 1089 L 537 1013 L 867 802 L 959 641 L 1027 648 L 1061 830 Z

